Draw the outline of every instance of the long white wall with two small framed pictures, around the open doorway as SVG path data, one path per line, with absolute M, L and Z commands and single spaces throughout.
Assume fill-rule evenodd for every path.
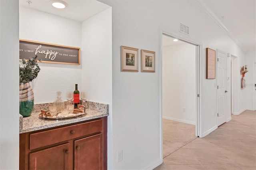
M 221 49 L 241 57 L 244 52 L 194 1 L 100 1 L 112 6 L 113 169 L 152 169 L 162 161 L 159 147 L 162 143 L 162 31 L 184 37 L 178 32 L 181 22 L 190 27 L 187 38 L 202 43 L 203 135 L 216 128 L 216 80 L 205 79 L 205 48 Z M 156 51 L 156 73 L 121 72 L 121 45 Z M 116 163 L 118 150 L 123 150 L 123 160 Z

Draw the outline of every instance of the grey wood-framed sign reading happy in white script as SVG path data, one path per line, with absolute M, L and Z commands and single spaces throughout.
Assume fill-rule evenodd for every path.
M 80 48 L 20 39 L 20 59 L 35 55 L 45 63 L 80 65 Z

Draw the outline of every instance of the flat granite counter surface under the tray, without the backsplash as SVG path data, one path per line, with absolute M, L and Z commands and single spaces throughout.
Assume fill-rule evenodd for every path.
M 22 123 L 22 129 L 20 133 L 31 132 L 35 130 L 42 130 L 51 127 L 57 127 L 61 125 L 68 125 L 71 123 L 77 123 L 82 121 L 88 121 L 100 117 L 108 116 L 108 113 L 102 113 L 94 110 L 86 109 L 86 114 L 80 117 L 72 119 L 52 120 L 39 117 L 40 112 L 32 113 L 30 117 L 24 117 Z

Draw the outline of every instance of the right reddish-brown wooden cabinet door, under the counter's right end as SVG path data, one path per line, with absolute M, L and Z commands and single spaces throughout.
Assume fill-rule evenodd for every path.
M 102 170 L 102 133 L 75 140 L 75 170 Z

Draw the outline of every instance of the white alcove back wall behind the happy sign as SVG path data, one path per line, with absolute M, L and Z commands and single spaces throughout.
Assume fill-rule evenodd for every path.
M 20 39 L 81 47 L 81 27 L 81 22 L 20 6 Z M 81 49 L 81 58 L 83 56 Z M 66 101 L 66 92 L 74 91 L 75 84 L 81 89 L 81 65 L 38 65 L 41 70 L 31 82 L 35 104 L 54 102 L 57 91 L 62 92 L 62 100 Z

